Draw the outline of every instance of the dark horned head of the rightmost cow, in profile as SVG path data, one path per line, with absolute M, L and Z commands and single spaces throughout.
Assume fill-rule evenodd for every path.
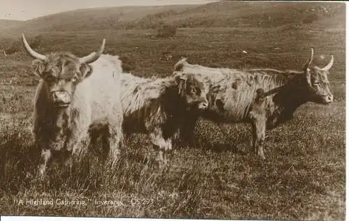
M 306 84 L 309 89 L 309 100 L 318 102 L 320 104 L 329 104 L 333 102 L 333 95 L 329 91 L 329 81 L 327 76 L 329 75 L 329 69 L 333 65 L 333 55 L 331 61 L 324 68 L 318 68 L 317 66 L 311 66 L 313 61 L 313 48 L 311 48 L 311 57 L 309 61 L 304 64 L 303 71 L 306 75 Z

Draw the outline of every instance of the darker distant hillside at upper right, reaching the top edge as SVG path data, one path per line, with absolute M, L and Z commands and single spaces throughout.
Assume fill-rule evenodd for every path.
M 337 16 L 336 26 L 345 28 L 346 5 L 344 3 L 321 2 L 243 2 L 221 1 L 189 8 L 179 13 L 169 13 L 161 21 L 179 27 L 253 27 L 271 28 L 288 24 L 309 24 L 328 17 Z M 154 26 L 158 22 L 154 15 L 131 22 L 132 27 Z M 151 23 L 153 22 L 153 23 Z

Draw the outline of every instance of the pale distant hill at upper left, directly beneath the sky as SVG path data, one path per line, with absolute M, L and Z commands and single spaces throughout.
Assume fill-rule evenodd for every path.
M 6 29 L 7 34 L 18 35 L 35 31 L 91 31 L 121 29 L 122 24 L 137 20 L 149 14 L 166 10 L 179 12 L 196 6 L 124 6 L 111 8 L 91 8 L 57 13 L 33 20 L 27 20 L 13 28 Z

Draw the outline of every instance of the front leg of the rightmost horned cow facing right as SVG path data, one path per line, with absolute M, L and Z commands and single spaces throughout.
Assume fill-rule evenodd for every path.
M 263 151 L 263 144 L 265 141 L 265 127 L 266 118 L 265 112 L 250 113 L 251 125 L 252 125 L 252 144 L 255 150 L 255 154 L 258 155 L 262 160 L 265 160 L 265 155 Z

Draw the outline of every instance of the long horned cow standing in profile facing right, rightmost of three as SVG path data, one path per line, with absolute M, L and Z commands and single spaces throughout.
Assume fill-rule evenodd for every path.
M 297 107 L 305 102 L 325 105 L 333 102 L 327 79 L 334 62 L 333 56 L 325 68 L 311 66 L 312 61 L 313 49 L 302 71 L 207 68 L 191 65 L 186 59 L 181 59 L 174 66 L 174 75 L 191 72 L 205 84 L 213 84 L 208 95 L 209 108 L 204 117 L 216 122 L 251 123 L 255 153 L 265 159 L 262 147 L 265 129 L 275 128 L 292 119 Z M 198 120 L 195 116 L 197 114 L 187 115 L 185 127 L 181 128 L 181 137 L 188 142 L 191 142 Z

